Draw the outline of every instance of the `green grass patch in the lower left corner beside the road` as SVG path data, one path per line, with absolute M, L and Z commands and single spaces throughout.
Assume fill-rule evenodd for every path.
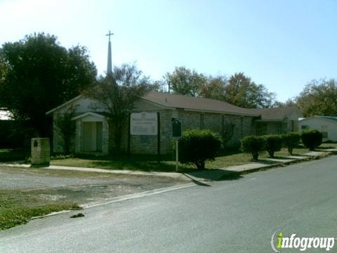
M 38 195 L 39 190 L 0 190 L 0 230 L 25 224 L 34 216 L 81 209 L 72 202 L 51 202 Z

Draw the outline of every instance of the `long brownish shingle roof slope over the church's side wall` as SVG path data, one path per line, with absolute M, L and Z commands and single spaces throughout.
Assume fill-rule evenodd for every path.
M 165 108 L 183 108 L 185 110 L 197 110 L 203 112 L 223 112 L 235 115 L 258 116 L 250 109 L 240 108 L 236 105 L 209 98 L 194 98 L 178 94 L 150 91 L 143 99 Z

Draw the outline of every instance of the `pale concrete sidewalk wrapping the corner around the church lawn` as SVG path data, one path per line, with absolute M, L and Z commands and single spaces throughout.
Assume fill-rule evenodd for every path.
M 217 181 L 221 180 L 224 176 L 229 175 L 239 175 L 244 173 L 249 173 L 253 171 L 258 171 L 260 169 L 270 169 L 273 167 L 280 167 L 286 164 L 293 164 L 296 162 L 303 162 L 306 160 L 315 160 L 322 157 L 327 157 L 332 154 L 337 154 L 337 148 L 329 150 L 319 150 L 305 153 L 300 156 L 291 155 L 287 157 L 275 157 L 275 158 L 263 158 L 259 162 L 251 162 L 249 164 L 242 164 L 237 166 L 230 166 L 221 169 L 209 169 L 204 171 L 194 171 L 190 173 L 177 173 L 177 172 L 156 172 L 156 171 L 131 171 L 131 170 L 120 170 L 120 169 L 95 169 L 95 168 L 84 168 L 84 167 L 65 167 L 65 166 L 55 166 L 51 165 L 49 167 L 42 167 L 42 169 L 65 169 L 72 171 L 91 171 L 98 173 L 112 173 L 112 174 L 131 174 L 138 176 L 167 176 L 173 179 L 183 179 L 187 181 Z M 22 164 L 20 162 L 1 162 L 0 166 L 6 167 L 26 167 L 29 168 L 30 164 Z

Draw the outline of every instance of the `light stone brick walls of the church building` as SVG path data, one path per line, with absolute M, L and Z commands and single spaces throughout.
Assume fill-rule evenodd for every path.
M 162 155 L 171 154 L 173 147 L 172 123 L 173 118 L 178 117 L 182 123 L 182 131 L 187 129 L 211 129 L 219 134 L 223 133 L 226 126 L 232 126 L 232 135 L 226 143 L 228 146 L 237 146 L 243 136 L 253 134 L 253 117 L 240 115 L 225 115 L 220 113 L 190 112 L 185 110 L 156 110 L 147 112 L 159 112 L 160 114 L 160 152 Z M 81 119 L 76 122 L 76 138 L 74 140 L 74 151 L 81 153 L 82 127 Z M 113 123 L 111 123 L 113 124 Z M 124 125 L 121 137 L 121 150 L 128 150 L 128 126 L 129 119 Z M 54 151 L 61 150 L 59 145 L 60 136 L 54 134 Z M 111 126 L 106 119 L 103 120 L 103 154 L 114 149 L 114 139 Z M 131 154 L 157 154 L 157 136 L 130 136 Z M 60 152 L 60 151 L 59 151 Z

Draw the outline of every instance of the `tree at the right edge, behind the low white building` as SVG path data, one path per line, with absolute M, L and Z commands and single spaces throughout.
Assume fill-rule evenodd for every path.
M 304 117 L 314 115 L 337 116 L 336 79 L 312 80 L 300 92 L 296 102 Z

